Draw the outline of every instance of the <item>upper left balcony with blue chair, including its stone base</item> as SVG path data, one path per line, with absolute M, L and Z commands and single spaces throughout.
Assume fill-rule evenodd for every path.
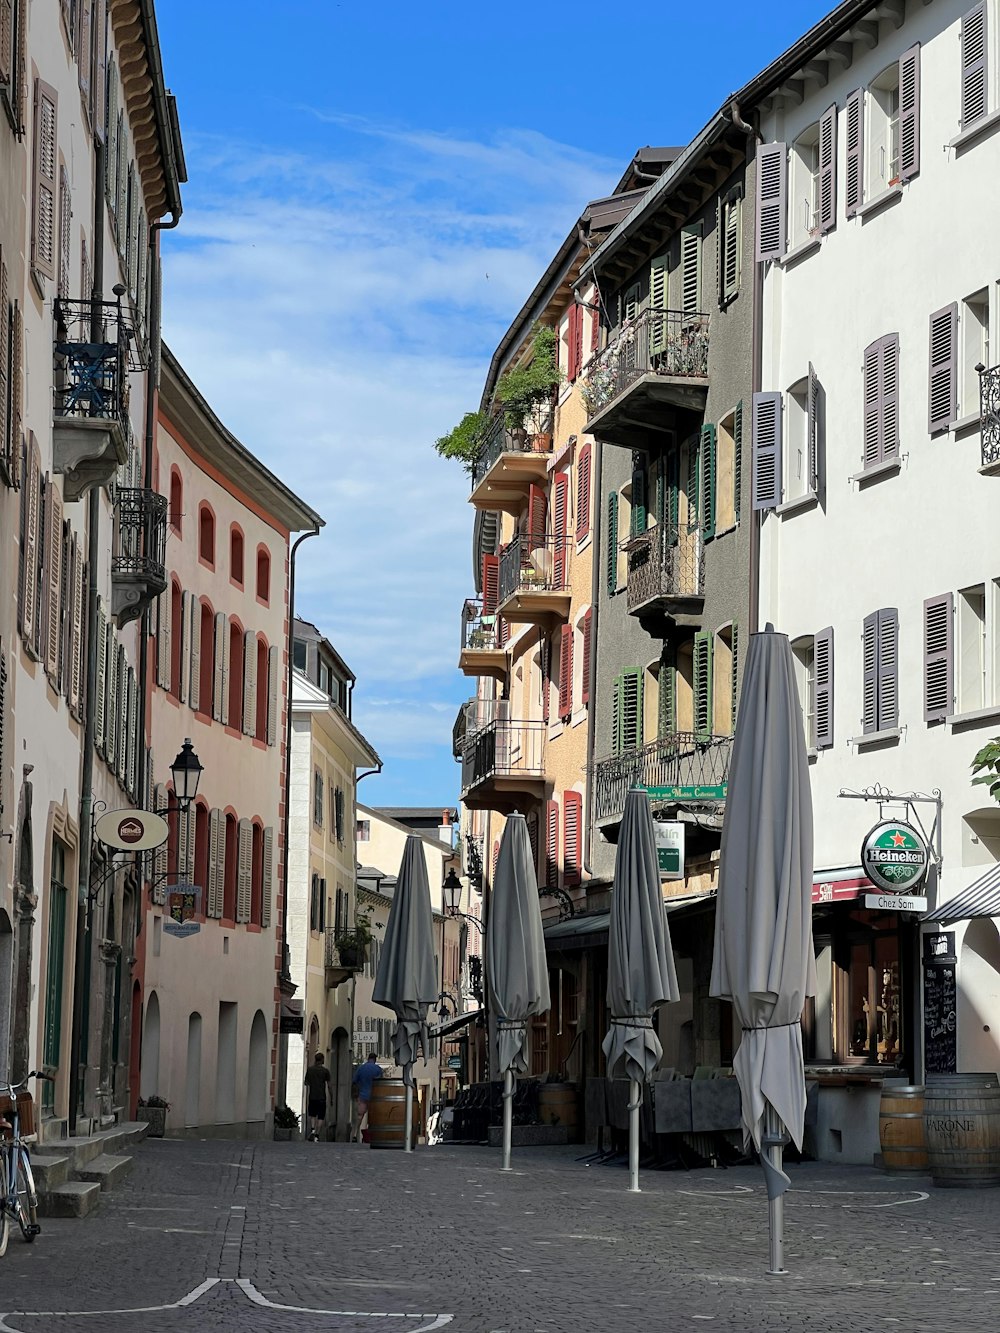
M 143 365 L 120 303 L 57 300 L 55 319 L 53 471 L 80 500 L 128 459 L 128 372 Z

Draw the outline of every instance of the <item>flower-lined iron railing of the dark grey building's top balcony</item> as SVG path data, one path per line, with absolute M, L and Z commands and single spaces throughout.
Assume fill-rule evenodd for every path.
M 623 325 L 584 367 L 587 416 L 596 416 L 643 375 L 704 379 L 708 375 L 708 316 L 643 311 Z

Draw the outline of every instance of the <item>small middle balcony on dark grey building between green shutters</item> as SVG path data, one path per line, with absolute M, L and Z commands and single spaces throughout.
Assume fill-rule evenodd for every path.
M 699 531 L 656 527 L 621 544 L 628 553 L 628 613 L 653 639 L 671 624 L 695 627 L 705 601 L 705 552 Z

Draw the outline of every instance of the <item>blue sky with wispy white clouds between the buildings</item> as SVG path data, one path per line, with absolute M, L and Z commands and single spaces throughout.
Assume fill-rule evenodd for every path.
M 357 674 L 367 804 L 452 805 L 472 508 L 432 445 L 583 205 L 828 5 L 161 0 L 188 161 L 164 333 L 327 520 L 297 608 Z M 668 19 L 669 15 L 669 19 Z

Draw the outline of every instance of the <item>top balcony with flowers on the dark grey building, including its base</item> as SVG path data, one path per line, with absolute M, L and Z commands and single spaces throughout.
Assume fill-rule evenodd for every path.
M 644 449 L 651 433 L 677 429 L 677 412 L 700 416 L 708 395 L 708 323 L 707 315 L 643 311 L 620 329 L 584 367 L 587 431 Z

